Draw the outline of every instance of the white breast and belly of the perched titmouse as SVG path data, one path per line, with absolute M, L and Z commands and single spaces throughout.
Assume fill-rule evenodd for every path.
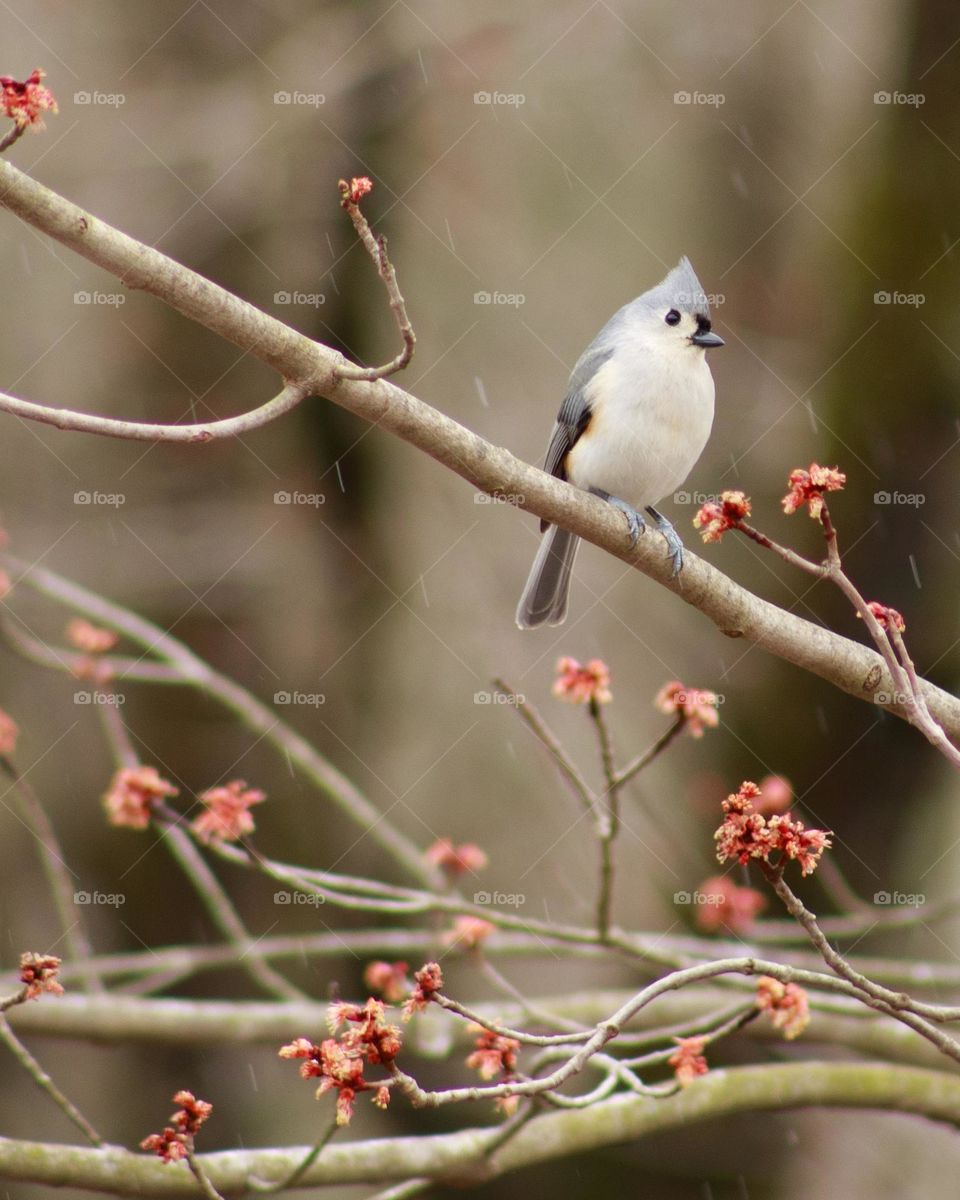
M 568 456 L 571 482 L 636 509 L 674 492 L 710 436 L 714 384 L 703 350 L 626 346 L 586 389 L 593 416 Z

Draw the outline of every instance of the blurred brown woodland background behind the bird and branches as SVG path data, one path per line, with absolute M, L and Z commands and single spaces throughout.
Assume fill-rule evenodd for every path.
M 919 670 L 956 689 L 955 5 L 10 0 L 0 25 L 0 71 L 25 78 L 43 66 L 60 102 L 11 161 L 305 334 L 379 362 L 398 340 L 336 187 L 368 175 L 365 211 L 390 240 L 418 335 L 397 382 L 538 463 L 580 352 L 689 254 L 726 348 L 710 358 L 712 442 L 664 511 L 700 548 L 696 508 L 740 487 L 761 528 L 815 556 L 817 527 L 784 517 L 779 500 L 793 467 L 839 466 L 848 482 L 832 511 L 850 572 L 868 598 L 904 612 Z M 277 390 L 248 355 L 8 215 L 0 271 L 7 392 L 180 421 L 239 413 Z M 505 676 L 545 710 L 595 778 L 583 712 L 550 697 L 566 654 L 610 665 L 624 758 L 662 731 L 652 701 L 666 680 L 722 697 L 719 730 L 683 739 L 631 788 L 624 924 L 690 928 L 673 894 L 713 874 L 720 798 L 770 772 L 790 778 L 806 820 L 836 832 L 836 862 L 868 899 L 956 889 L 956 785 L 919 734 L 724 640 L 592 547 L 566 625 L 521 634 L 514 611 L 536 521 L 325 401 L 212 446 L 109 442 L 12 418 L 0 430 L 1 515 L 16 553 L 142 612 L 262 700 L 314 697 L 278 712 L 418 844 L 480 842 L 491 856 L 484 887 L 523 894 L 530 917 L 586 924 L 595 856 L 542 752 L 491 702 L 491 679 Z M 768 599 L 863 638 L 838 596 L 757 547 L 727 538 L 704 553 Z M 62 610 L 25 588 L 6 607 L 62 642 Z M 172 884 L 163 848 L 142 857 L 144 835 L 106 827 L 112 760 L 72 680 L 0 654 L 0 704 L 23 728 L 20 769 L 78 886 L 126 894 L 120 911 L 86 913 L 97 948 L 215 941 L 190 888 Z M 185 796 L 238 775 L 266 790 L 265 852 L 401 880 L 212 702 L 122 690 L 144 761 Z M 59 926 L 31 836 L 6 803 L 0 822 L 8 970 L 24 948 L 54 949 Z M 254 934 L 324 928 L 314 910 L 278 913 L 265 883 L 222 874 Z M 815 883 L 804 894 L 823 904 Z M 919 926 L 882 946 L 952 961 L 958 932 Z M 323 997 L 331 980 L 355 995 L 361 970 L 344 954 L 293 974 Z M 484 995 L 469 967 L 451 970 L 458 994 Z M 511 978 L 548 995 L 636 976 L 547 958 L 511 967 Z M 174 991 L 257 995 L 230 972 Z M 320 1120 L 312 1088 L 270 1048 L 36 1050 L 86 1080 L 77 1098 L 112 1141 L 158 1128 L 181 1086 L 217 1105 L 204 1148 L 307 1141 Z M 8 1136 L 71 1138 L 6 1064 L 0 1115 Z M 396 1105 L 364 1111 L 355 1132 L 486 1117 Z M 907 1117 L 785 1112 L 617 1147 L 476 1195 L 593 1196 L 642 1178 L 650 1194 L 684 1200 L 899 1196 L 894 1166 L 918 1195 L 952 1194 L 944 1181 L 960 1150 Z

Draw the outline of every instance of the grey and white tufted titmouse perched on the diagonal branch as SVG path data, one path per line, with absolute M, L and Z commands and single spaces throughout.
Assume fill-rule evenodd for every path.
M 704 350 L 707 296 L 688 258 L 604 325 L 581 354 L 547 446 L 544 470 L 620 509 L 636 542 L 647 510 L 662 533 L 673 575 L 683 544 L 653 508 L 686 479 L 713 424 L 713 376 Z M 570 571 L 580 539 L 558 526 L 540 542 L 517 608 L 517 625 L 559 625 L 566 617 Z

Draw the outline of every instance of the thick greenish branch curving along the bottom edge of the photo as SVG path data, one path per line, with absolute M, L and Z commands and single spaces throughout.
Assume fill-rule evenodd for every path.
M 382 1138 L 326 1146 L 298 1187 L 341 1187 L 433 1178 L 479 1183 L 568 1154 L 686 1129 L 739 1112 L 822 1108 L 907 1112 L 960 1128 L 960 1079 L 943 1072 L 875 1063 L 790 1063 L 712 1072 L 665 1099 L 616 1096 L 588 1109 L 534 1117 L 487 1157 L 500 1129 L 464 1129 L 420 1138 Z M 251 1178 L 287 1178 L 310 1152 L 242 1150 L 198 1154 L 214 1186 L 229 1195 L 252 1190 Z M 196 1196 L 186 1170 L 108 1147 L 86 1150 L 0 1138 L 0 1178 L 70 1186 L 109 1195 Z

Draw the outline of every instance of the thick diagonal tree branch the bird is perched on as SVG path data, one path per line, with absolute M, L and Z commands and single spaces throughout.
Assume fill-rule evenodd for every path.
M 668 588 L 726 636 L 744 637 L 870 703 L 878 691 L 892 697 L 898 691 L 875 650 L 761 600 L 689 551 L 682 575 L 672 580 L 656 540 L 641 538 L 631 547 L 622 515 L 608 504 L 520 461 L 385 379 L 343 378 L 347 364 L 336 350 L 90 216 L 6 161 L 0 161 L 0 205 L 112 271 L 127 287 L 150 292 L 275 367 L 287 383 L 379 425 L 481 491 L 518 497 L 521 508 L 563 526 Z M 920 690 L 937 722 L 960 739 L 960 700 L 925 682 L 920 682 Z M 902 715 L 894 698 L 882 707 Z

